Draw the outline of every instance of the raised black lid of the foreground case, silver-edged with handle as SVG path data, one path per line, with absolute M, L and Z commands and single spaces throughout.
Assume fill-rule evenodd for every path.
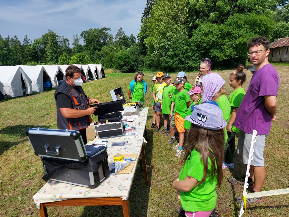
M 36 155 L 73 161 L 88 158 L 77 130 L 29 128 L 26 135 Z

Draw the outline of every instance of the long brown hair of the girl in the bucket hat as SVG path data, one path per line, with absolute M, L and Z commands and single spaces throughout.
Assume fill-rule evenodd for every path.
M 207 175 L 213 180 L 217 174 L 217 187 L 220 187 L 223 182 L 224 130 L 209 130 L 192 124 L 188 132 L 187 143 L 187 150 L 181 163 L 184 165 L 191 152 L 196 150 L 200 153 L 201 163 L 204 165 L 203 179 L 196 186 L 201 185 L 206 180 Z M 208 158 L 211 161 L 211 171 L 208 171 Z

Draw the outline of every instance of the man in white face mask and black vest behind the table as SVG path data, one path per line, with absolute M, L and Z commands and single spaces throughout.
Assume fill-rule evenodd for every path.
M 100 102 L 85 95 L 81 87 L 81 71 L 77 66 L 68 66 L 65 70 L 65 78 L 65 82 L 60 84 L 54 93 L 57 127 L 64 130 L 79 130 L 86 144 L 86 128 L 92 122 L 90 115 L 97 108 L 90 108 L 89 105 Z

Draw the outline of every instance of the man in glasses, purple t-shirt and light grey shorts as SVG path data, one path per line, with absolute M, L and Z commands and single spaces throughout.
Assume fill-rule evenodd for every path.
M 237 153 L 243 155 L 243 163 L 249 159 L 253 130 L 257 130 L 254 144 L 254 157 L 251 161 L 249 188 L 252 192 L 260 192 L 266 177 L 263 152 L 265 139 L 270 132 L 272 120 L 276 119 L 277 92 L 279 88 L 279 75 L 276 69 L 268 62 L 270 42 L 266 37 L 251 38 L 248 44 L 249 58 L 256 71 L 254 72 L 249 88 L 238 109 L 234 126 L 240 129 Z M 255 185 L 253 185 L 253 174 Z M 234 185 L 244 185 L 242 178 L 229 178 Z M 235 198 L 242 202 L 242 197 Z M 262 197 L 247 198 L 246 203 L 262 203 Z

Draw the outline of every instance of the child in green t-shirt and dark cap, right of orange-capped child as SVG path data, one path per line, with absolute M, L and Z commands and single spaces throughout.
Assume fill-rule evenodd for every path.
M 166 136 L 168 136 L 167 131 L 171 132 L 171 129 L 168 127 L 168 124 L 172 105 L 171 98 L 168 95 L 174 93 L 176 91 L 176 87 L 171 83 L 172 78 L 169 74 L 167 73 L 164 74 L 162 79 L 166 83 L 166 86 L 163 89 L 162 103 L 161 103 L 162 115 L 164 116 L 164 129 L 159 133 L 159 135 L 165 133 Z

